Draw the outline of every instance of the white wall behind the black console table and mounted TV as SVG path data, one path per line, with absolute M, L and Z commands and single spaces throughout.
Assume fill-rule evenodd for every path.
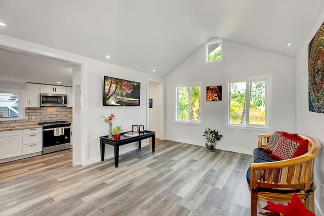
M 111 112 L 114 113 L 116 119 L 113 120 L 113 127 L 121 125 L 124 132 L 132 131 L 132 125 L 144 125 L 146 127 L 146 89 L 147 78 L 153 78 L 163 81 L 164 78 L 151 75 L 148 73 L 132 70 L 117 65 L 112 65 L 105 62 L 89 59 L 88 61 L 88 159 L 89 162 L 100 161 L 100 136 L 108 135 L 109 125 L 103 121 L 101 114 L 108 116 Z M 103 78 L 112 76 L 121 79 L 127 79 L 141 83 L 141 99 L 140 106 L 103 106 Z M 142 146 L 147 144 L 143 143 Z M 137 148 L 137 143 L 128 144 L 119 148 L 119 153 L 134 150 Z M 106 145 L 105 158 L 113 156 L 113 146 Z

